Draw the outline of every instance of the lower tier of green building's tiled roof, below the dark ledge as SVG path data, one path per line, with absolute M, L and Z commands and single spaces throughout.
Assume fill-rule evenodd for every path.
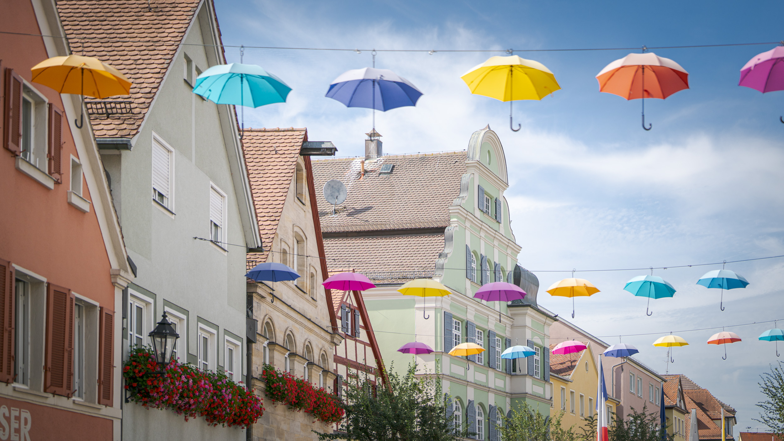
M 444 235 L 332 238 L 324 239 L 324 248 L 329 268 L 354 268 L 374 283 L 403 283 L 433 277 Z

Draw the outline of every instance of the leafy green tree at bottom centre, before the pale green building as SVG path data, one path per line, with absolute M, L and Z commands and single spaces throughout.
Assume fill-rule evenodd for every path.
M 447 414 L 441 378 L 417 377 L 416 364 L 405 374 L 387 372 L 387 387 L 355 381 L 344 389 L 346 416 L 339 432 L 316 432 L 318 439 L 351 441 L 454 441 L 452 417 Z M 463 433 L 460 434 L 461 436 Z

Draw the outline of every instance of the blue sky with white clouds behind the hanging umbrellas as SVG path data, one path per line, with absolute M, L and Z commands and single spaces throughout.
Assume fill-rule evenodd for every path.
M 227 45 L 360 49 L 568 49 L 776 42 L 784 38 L 782 2 L 217 2 Z M 737 86 L 739 69 L 775 45 L 653 49 L 689 72 L 691 89 L 640 101 L 598 92 L 594 76 L 638 50 L 528 52 L 554 72 L 561 90 L 509 104 L 471 95 L 459 76 L 503 53 L 379 53 L 376 67 L 408 78 L 424 93 L 416 108 L 376 115 L 385 153 L 466 148 L 490 124 L 510 169 L 506 198 L 523 246 L 521 264 L 550 269 L 648 268 L 784 254 L 784 92 Z M 227 48 L 239 61 L 239 50 Z M 292 86 L 286 104 L 245 111 L 245 126 L 303 127 L 332 140 L 339 156 L 364 153 L 368 109 L 324 97 L 332 79 L 371 65 L 367 51 L 245 49 Z M 669 333 L 784 319 L 784 259 L 728 265 L 751 285 L 724 293 L 695 285 L 717 267 L 657 270 L 675 286 L 671 299 L 645 301 L 622 290 L 646 272 L 576 273 L 602 292 L 578 298 L 574 323 L 597 336 Z M 543 291 L 569 273 L 538 272 L 539 302 L 568 316 L 571 299 Z M 760 427 L 759 375 L 775 363 L 774 344 L 757 341 L 772 326 L 730 328 L 743 338 L 723 348 L 716 330 L 681 333 L 670 373 L 682 373 L 739 410 L 737 428 Z M 779 327 L 784 327 L 780 323 Z M 625 337 L 660 372 L 659 335 Z M 605 338 L 615 342 L 617 337 Z M 784 351 L 784 344 L 780 352 Z

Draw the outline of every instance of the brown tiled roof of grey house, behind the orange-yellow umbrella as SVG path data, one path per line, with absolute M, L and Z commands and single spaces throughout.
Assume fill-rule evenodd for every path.
M 139 130 L 196 12 L 198 0 L 57 0 L 71 52 L 95 56 L 133 82 L 132 114 L 93 115 L 96 137 L 130 138 Z M 147 8 L 151 5 L 152 11 Z M 87 99 L 90 101 L 92 98 Z

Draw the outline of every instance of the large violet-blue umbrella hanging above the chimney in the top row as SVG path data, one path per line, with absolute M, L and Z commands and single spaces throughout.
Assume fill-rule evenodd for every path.
M 376 110 L 388 111 L 405 106 L 416 106 L 422 92 L 407 79 L 389 69 L 365 67 L 345 71 L 329 85 L 325 97 L 338 100 L 347 108 L 373 109 L 373 128 Z

